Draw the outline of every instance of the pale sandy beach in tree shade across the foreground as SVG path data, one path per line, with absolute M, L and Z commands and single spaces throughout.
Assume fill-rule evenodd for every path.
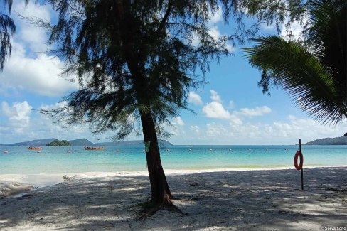
M 161 210 L 146 220 L 137 220 L 149 200 L 146 173 L 69 175 L 0 197 L 0 230 L 347 230 L 346 167 L 305 169 L 304 191 L 294 169 L 166 171 L 181 199 L 173 203 L 188 214 Z

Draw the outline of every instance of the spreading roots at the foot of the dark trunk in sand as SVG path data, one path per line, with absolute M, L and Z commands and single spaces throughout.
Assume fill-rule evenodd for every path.
M 164 200 L 163 203 L 153 203 L 152 201 L 140 204 L 142 210 L 139 212 L 139 217 L 137 220 L 146 219 L 151 215 L 154 215 L 157 211 L 161 209 L 167 209 L 173 212 L 181 213 L 181 215 L 188 215 L 188 213 L 183 213 L 176 205 L 174 205 L 171 200 Z

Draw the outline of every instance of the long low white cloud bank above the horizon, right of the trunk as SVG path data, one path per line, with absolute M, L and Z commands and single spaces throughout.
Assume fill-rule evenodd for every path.
M 337 127 L 319 124 L 313 119 L 289 116 L 284 121 L 269 123 L 228 121 L 209 122 L 205 126 L 191 125 L 178 144 L 297 144 L 324 137 L 343 136 L 347 122 Z M 203 136 L 194 136 L 198 131 Z

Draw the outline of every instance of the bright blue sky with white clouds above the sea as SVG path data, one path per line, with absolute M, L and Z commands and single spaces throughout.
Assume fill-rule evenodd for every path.
M 11 16 L 17 31 L 12 40 L 13 50 L 4 72 L 0 74 L 0 144 L 32 139 L 80 139 L 109 141 L 112 131 L 93 136 L 87 125 L 63 128 L 36 109 L 51 108 L 63 95 L 78 89 L 78 85 L 60 77 L 64 65 L 58 58 L 43 53 L 48 45 L 41 28 L 18 18 L 36 16 L 53 20 L 49 6 L 14 2 Z M 223 25 L 216 14 L 210 22 L 215 36 L 227 35 L 232 26 Z M 294 27 L 299 31 L 299 26 Z M 262 35 L 276 33 L 263 26 Z M 249 45 L 249 44 L 248 44 Z M 246 45 L 247 46 L 247 45 Z M 196 112 L 181 112 L 172 118 L 174 127 L 166 127 L 173 144 L 295 144 L 324 137 L 342 136 L 347 123 L 330 127 L 315 122 L 294 106 L 282 90 L 273 89 L 271 97 L 257 87 L 260 72 L 242 56 L 240 46 L 230 49 L 235 56 L 211 63 L 204 85 L 191 90 L 189 107 Z M 129 140 L 142 137 L 129 136 Z

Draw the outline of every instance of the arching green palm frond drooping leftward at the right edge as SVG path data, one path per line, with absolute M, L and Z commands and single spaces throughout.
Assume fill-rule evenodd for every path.
M 333 75 L 319 58 L 303 46 L 277 36 L 254 41 L 255 47 L 244 50 L 250 63 L 263 71 L 262 79 L 267 84 L 274 80 L 299 108 L 321 122 L 338 123 L 347 117 Z

